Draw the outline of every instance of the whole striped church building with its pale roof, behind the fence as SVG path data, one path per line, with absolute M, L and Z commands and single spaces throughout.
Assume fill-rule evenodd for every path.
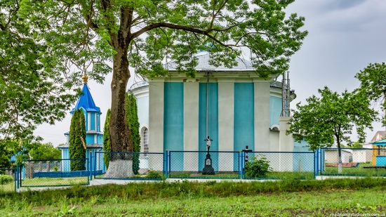
M 280 74 L 259 77 L 251 63 L 241 58 L 230 69 L 209 65 L 208 52 L 198 53 L 196 58 L 195 78 L 186 77 L 175 64 L 168 63 L 167 77 L 132 86 L 130 92 L 138 99 L 138 111 L 149 110 L 142 114 L 147 123 L 140 121 L 142 132 L 146 126 L 149 152 L 204 152 L 208 136 L 212 139 L 210 150 L 215 152 L 240 152 L 246 146 L 255 152 L 307 151 L 305 144 L 294 143 L 292 136 L 286 135 L 291 117 L 281 116 L 283 88 L 276 81 Z M 146 88 L 148 93 L 144 94 Z M 288 100 L 295 97 L 293 91 L 288 93 Z M 237 161 L 216 154 L 212 158 L 213 164 Z M 187 161 L 190 159 L 186 156 L 180 157 L 180 165 Z M 286 162 L 292 170 L 292 156 Z M 195 167 L 202 168 L 201 164 Z M 152 166 L 149 160 L 149 168 Z M 213 166 L 218 169 L 218 165 Z

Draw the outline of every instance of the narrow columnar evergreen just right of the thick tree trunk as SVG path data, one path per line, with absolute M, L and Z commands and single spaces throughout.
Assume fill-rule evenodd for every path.
M 131 140 L 133 141 L 133 152 L 140 152 L 140 122 L 138 121 L 137 100 L 133 94 L 126 93 L 126 119 L 128 129 L 131 131 Z M 133 173 L 138 174 L 140 170 L 140 154 L 133 155 Z

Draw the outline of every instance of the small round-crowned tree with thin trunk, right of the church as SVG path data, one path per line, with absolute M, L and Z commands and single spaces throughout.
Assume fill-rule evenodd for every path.
M 317 147 L 338 146 L 338 172 L 342 171 L 342 142 L 352 144 L 351 134 L 354 127 L 361 143 L 366 138 L 364 130 L 372 129 L 371 123 L 378 114 L 371 109 L 370 100 L 363 91 L 347 90 L 341 95 L 328 87 L 318 90 L 321 97 L 311 96 L 307 103 L 296 105 L 293 110 L 291 126 L 287 133 L 292 133 L 295 141 L 307 140 L 311 150 Z

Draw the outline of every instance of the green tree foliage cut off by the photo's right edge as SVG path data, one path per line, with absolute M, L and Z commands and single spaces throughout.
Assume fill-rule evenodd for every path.
M 361 81 L 361 90 L 365 91 L 371 100 L 383 100 L 381 107 L 385 115 L 382 124 L 386 126 L 386 64 L 371 63 L 355 77 Z

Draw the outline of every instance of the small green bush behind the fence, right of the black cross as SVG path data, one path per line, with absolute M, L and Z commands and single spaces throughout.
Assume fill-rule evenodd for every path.
M 272 171 L 272 168 L 265 157 L 260 157 L 260 159 L 253 157 L 250 161 L 246 162 L 246 177 L 264 177 L 270 171 Z

